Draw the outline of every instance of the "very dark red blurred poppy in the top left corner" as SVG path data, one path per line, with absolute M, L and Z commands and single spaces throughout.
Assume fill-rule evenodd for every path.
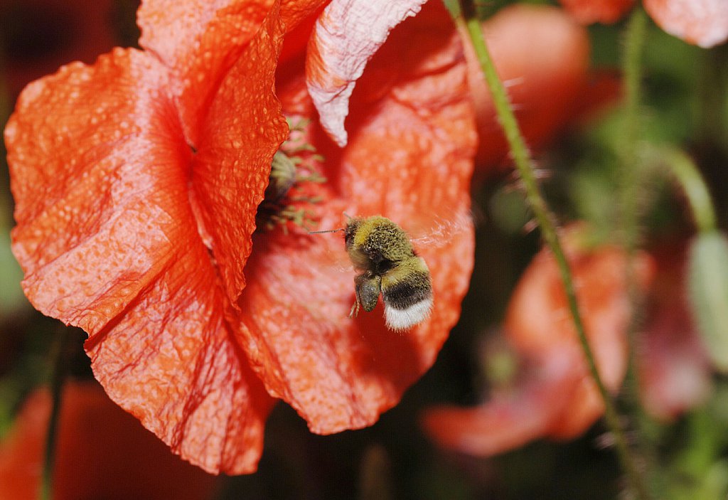
M 112 0 L 0 2 L 0 72 L 12 99 L 58 66 L 92 63 L 114 47 Z

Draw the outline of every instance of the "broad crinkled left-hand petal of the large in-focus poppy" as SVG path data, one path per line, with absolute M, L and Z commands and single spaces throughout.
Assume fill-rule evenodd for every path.
M 13 251 L 31 303 L 89 333 L 112 399 L 208 471 L 247 472 L 272 400 L 232 339 L 165 75 L 117 49 L 23 92 L 5 132 Z

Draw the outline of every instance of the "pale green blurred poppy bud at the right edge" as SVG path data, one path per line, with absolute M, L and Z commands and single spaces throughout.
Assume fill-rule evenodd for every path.
M 728 373 L 728 239 L 719 231 L 700 233 L 691 242 L 689 297 L 708 355 Z

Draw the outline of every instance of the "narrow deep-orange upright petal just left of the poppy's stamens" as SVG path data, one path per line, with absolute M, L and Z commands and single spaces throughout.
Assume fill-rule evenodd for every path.
M 192 162 L 195 205 L 205 226 L 201 232 L 212 239 L 231 303 L 245 287 L 256 212 L 273 155 L 288 135 L 273 93 L 282 31 L 273 9 L 221 82 Z

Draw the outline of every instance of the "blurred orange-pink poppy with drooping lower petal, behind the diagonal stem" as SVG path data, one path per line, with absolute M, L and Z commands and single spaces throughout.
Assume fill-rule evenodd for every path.
M 627 368 L 625 253 L 609 246 L 588 250 L 580 237 L 578 229 L 565 235 L 567 258 L 600 376 L 616 391 Z M 645 287 L 652 274 L 649 256 L 637 255 L 634 271 L 638 285 Z M 547 250 L 534 258 L 518 282 L 505 332 L 523 361 L 522 376 L 483 406 L 430 410 L 424 426 L 438 444 L 487 456 L 539 437 L 575 437 L 604 412 L 555 260 Z

